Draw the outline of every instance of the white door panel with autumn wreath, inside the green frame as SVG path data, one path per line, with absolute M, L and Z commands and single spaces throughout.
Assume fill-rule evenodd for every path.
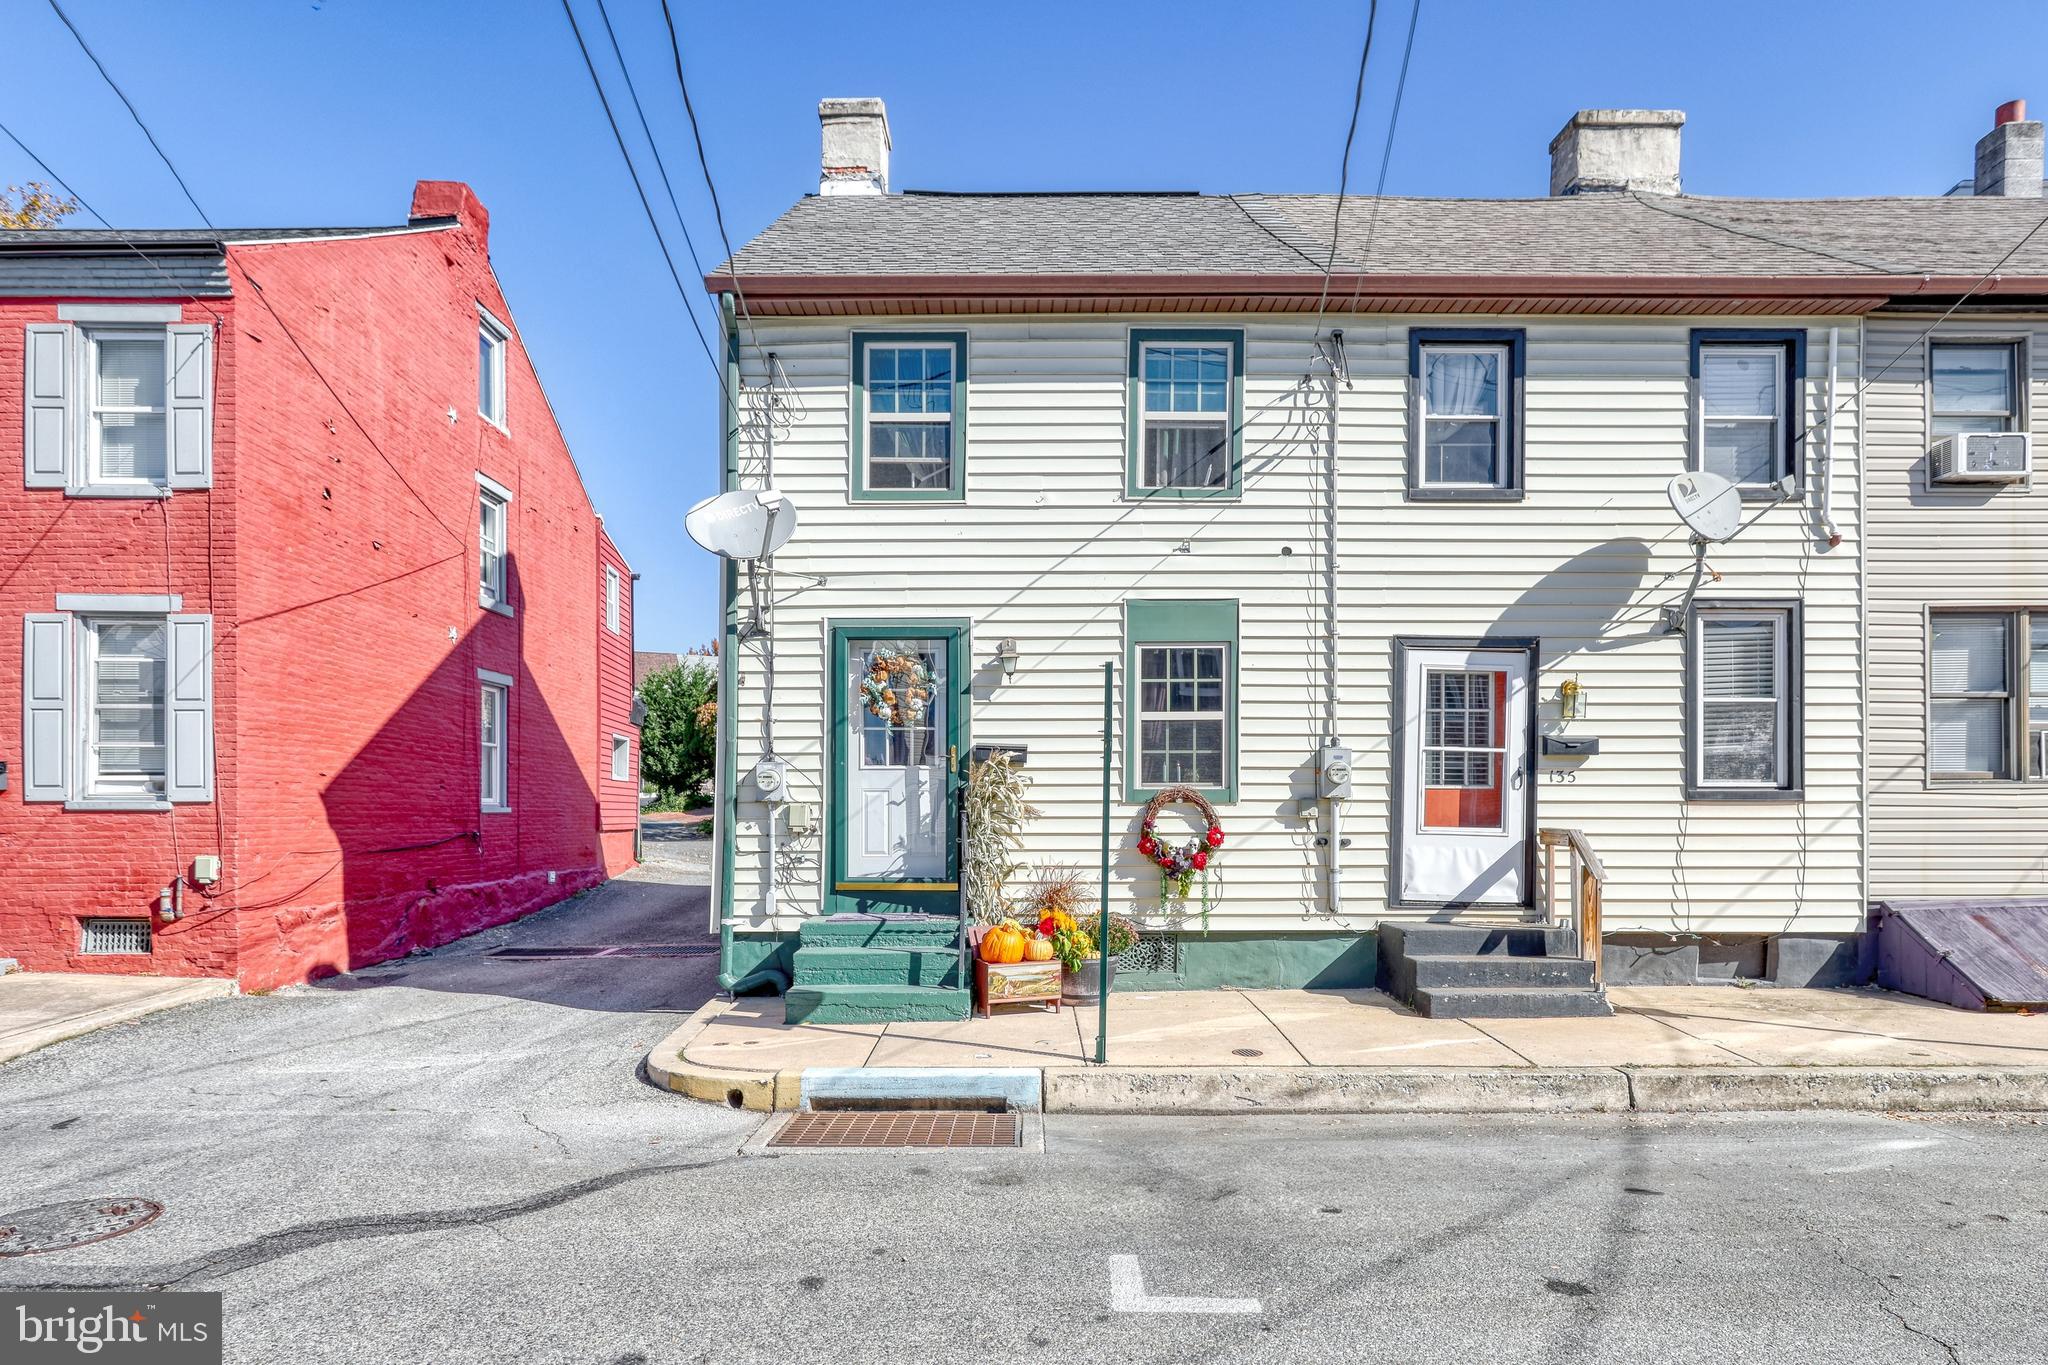
M 950 880 L 944 636 L 846 645 L 846 880 Z

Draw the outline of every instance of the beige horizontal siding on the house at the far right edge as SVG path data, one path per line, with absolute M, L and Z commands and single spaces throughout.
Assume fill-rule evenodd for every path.
M 1870 898 L 2048 894 L 2048 784 L 1927 778 L 1927 612 L 2048 608 L 2048 485 L 1927 483 L 1933 317 L 1872 317 Z M 2021 338 L 2028 422 L 2048 403 L 2048 315 L 1944 321 L 1933 340 Z M 1939 489 L 1939 491 L 1937 491 Z

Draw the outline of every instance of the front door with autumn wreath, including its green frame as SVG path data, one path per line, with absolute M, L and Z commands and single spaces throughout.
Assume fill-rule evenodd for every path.
M 967 622 L 831 628 L 827 913 L 958 909 Z

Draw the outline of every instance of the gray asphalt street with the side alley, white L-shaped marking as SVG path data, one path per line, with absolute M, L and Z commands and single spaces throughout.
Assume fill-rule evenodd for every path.
M 252 1363 L 2048 1359 L 2030 1115 L 1053 1117 L 1042 1152 L 741 1154 L 758 1115 L 635 1070 L 715 960 L 487 956 L 707 941 L 694 851 L 0 1066 L 0 1222 L 166 1207 L 0 1285 L 219 1289 Z

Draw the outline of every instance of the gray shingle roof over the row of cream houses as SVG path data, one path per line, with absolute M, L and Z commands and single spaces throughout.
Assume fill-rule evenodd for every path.
M 1317 274 L 1333 194 L 807 196 L 743 246 L 748 274 Z M 1352 196 L 1339 272 L 1413 276 L 1982 274 L 2038 199 Z M 1366 239 L 1370 235 L 1370 256 Z M 723 266 L 721 266 L 723 268 Z M 2048 231 L 2007 274 L 2048 274 Z

